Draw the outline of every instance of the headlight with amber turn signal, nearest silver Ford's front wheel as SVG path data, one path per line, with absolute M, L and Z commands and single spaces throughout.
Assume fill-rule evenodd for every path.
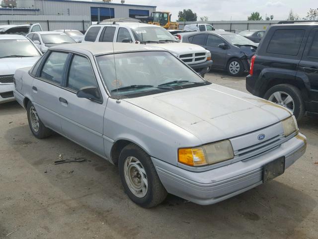
M 190 166 L 214 164 L 231 158 L 234 158 L 234 152 L 229 140 L 178 150 L 178 162 Z

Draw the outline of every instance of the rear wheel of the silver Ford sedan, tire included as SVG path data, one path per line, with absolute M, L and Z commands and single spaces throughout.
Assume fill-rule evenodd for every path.
M 30 129 L 35 137 L 46 138 L 52 134 L 52 130 L 42 123 L 31 101 L 28 102 L 26 112 Z

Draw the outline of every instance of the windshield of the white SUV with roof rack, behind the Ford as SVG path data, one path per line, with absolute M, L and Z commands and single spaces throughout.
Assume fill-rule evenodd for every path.
M 147 26 L 133 28 L 133 32 L 137 41 L 140 42 L 164 42 L 164 41 L 175 41 L 174 36 L 171 35 L 163 27 Z

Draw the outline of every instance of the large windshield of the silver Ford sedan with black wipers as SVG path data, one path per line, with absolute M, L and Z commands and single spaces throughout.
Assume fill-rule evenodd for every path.
M 211 84 L 168 52 L 118 53 L 97 56 L 96 61 L 112 96 L 132 98 Z

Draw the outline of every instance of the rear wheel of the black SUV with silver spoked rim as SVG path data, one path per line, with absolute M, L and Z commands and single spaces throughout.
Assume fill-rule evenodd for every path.
M 270 88 L 264 98 L 273 103 L 286 107 L 293 112 L 297 120 L 305 114 L 305 104 L 300 90 L 292 85 L 281 84 Z

